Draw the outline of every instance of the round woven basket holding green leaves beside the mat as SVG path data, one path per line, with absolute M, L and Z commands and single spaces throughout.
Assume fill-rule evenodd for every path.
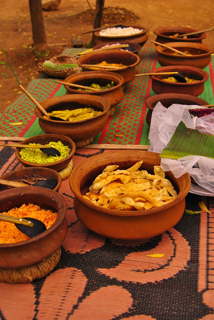
M 75 57 L 56 56 L 56 57 L 50 59 L 49 61 L 56 63 L 56 64 L 61 64 L 61 63 L 77 64 L 77 60 L 78 59 Z M 48 76 L 65 79 L 65 78 L 67 78 L 67 76 L 81 72 L 82 68 L 80 66 L 78 66 L 78 67 L 67 68 L 67 69 L 63 69 L 63 70 L 52 70 L 52 69 L 43 67 L 43 65 L 41 63 L 38 63 L 37 71 L 40 73 L 43 73 L 45 75 L 48 75 Z

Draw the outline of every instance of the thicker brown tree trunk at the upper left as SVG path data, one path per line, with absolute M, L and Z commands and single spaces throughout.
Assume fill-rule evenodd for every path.
M 47 45 L 41 0 L 29 0 L 34 46 L 44 49 Z

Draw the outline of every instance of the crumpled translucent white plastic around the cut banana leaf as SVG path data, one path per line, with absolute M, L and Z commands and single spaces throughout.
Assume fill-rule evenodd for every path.
M 181 121 L 185 123 L 187 128 L 214 135 L 214 113 L 192 119 L 188 109 L 196 108 L 198 109 L 199 106 L 178 104 L 165 108 L 158 102 L 152 112 L 148 151 L 161 153 Z M 188 172 L 200 187 L 214 193 L 214 159 L 204 156 L 185 156 L 178 160 L 161 158 L 161 166 L 164 171 L 172 171 L 177 178 Z M 197 191 L 197 193 L 199 192 Z

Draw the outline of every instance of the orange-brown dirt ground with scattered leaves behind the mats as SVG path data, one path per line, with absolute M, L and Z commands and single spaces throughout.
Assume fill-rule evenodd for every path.
M 89 2 L 89 3 L 88 3 Z M 90 44 L 92 34 L 82 35 L 93 28 L 96 0 L 61 0 L 57 11 L 43 11 L 48 47 L 45 51 L 33 48 L 29 4 L 26 0 L 1 0 L 0 12 L 0 111 L 22 92 L 5 58 L 6 50 L 21 82 L 28 83 L 40 74 L 37 63 L 72 47 L 72 38 L 79 38 L 84 46 Z M 90 4 L 90 6 L 89 6 Z M 198 0 L 105 0 L 102 26 L 115 23 L 133 24 L 149 28 L 144 47 L 154 46 L 154 29 L 180 26 L 205 30 L 214 27 L 214 1 Z M 203 43 L 214 46 L 214 31 L 207 32 Z

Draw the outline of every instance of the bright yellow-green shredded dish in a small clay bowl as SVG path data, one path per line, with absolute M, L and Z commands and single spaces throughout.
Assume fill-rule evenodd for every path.
M 39 145 L 36 143 L 30 143 L 30 145 Z M 55 161 L 59 161 L 65 157 L 67 157 L 71 151 L 68 146 L 64 146 L 61 141 L 58 142 L 49 142 L 47 146 L 53 147 L 61 153 L 61 156 L 51 156 L 44 152 L 42 152 L 39 148 L 23 148 L 20 150 L 20 157 L 28 162 L 37 163 L 37 164 L 45 164 L 52 163 Z

